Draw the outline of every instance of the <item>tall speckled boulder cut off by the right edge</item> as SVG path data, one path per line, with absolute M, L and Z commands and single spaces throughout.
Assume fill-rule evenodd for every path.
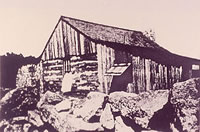
M 189 79 L 185 82 L 174 84 L 171 89 L 171 103 L 176 110 L 182 130 L 197 132 L 199 130 L 199 106 L 200 106 L 200 78 Z M 176 124 L 175 124 L 175 127 Z

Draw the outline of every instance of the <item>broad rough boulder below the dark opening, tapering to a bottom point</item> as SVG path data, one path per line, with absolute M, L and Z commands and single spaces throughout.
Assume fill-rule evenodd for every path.
M 114 92 L 109 96 L 109 103 L 114 112 L 132 119 L 142 128 L 148 128 L 154 113 L 168 102 L 168 90 L 147 91 L 140 94 Z

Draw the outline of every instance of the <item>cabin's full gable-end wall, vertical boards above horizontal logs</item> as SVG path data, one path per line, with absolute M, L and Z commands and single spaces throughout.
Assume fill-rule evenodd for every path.
M 48 87 L 46 90 L 51 81 L 56 86 L 52 86 L 55 89 L 50 90 L 60 90 L 66 72 L 75 72 L 78 87 L 98 87 L 96 53 L 96 44 L 93 41 L 68 23 L 59 21 L 41 55 L 43 85 Z

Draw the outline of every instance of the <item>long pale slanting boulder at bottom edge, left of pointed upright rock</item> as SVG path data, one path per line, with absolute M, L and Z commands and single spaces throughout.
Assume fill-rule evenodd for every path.
M 41 108 L 42 120 L 51 124 L 59 132 L 76 131 L 103 131 L 101 123 L 88 123 L 82 118 L 69 114 L 68 112 L 58 112 L 53 105 L 43 105 Z

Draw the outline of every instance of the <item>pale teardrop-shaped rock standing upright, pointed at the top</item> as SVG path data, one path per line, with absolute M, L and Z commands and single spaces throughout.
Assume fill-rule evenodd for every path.
M 106 107 L 104 108 L 104 111 L 102 112 L 102 115 L 100 117 L 100 122 L 102 123 L 102 126 L 106 129 L 113 129 L 114 128 L 114 117 L 110 108 L 110 104 L 106 104 Z

